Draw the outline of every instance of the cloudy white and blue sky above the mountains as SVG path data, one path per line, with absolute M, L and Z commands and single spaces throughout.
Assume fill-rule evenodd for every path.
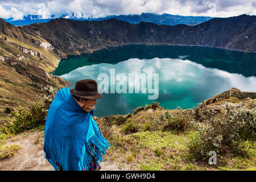
M 23 19 L 27 14 L 47 19 L 63 14 L 67 15 L 65 18 L 100 18 L 141 13 L 212 17 L 256 15 L 256 0 L 0 0 L 0 18 L 14 20 Z

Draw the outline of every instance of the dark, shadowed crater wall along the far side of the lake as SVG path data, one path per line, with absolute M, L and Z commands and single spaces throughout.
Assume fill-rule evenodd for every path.
M 100 22 L 59 18 L 19 28 L 46 39 L 53 47 L 69 55 L 138 43 L 256 52 L 256 16 L 250 15 L 213 18 L 196 26 L 159 26 L 148 22 L 130 24 L 114 18 Z

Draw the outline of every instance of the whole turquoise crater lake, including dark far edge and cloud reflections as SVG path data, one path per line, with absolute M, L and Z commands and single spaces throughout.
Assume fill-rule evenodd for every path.
M 72 89 L 76 81 L 82 79 L 93 79 L 102 85 L 98 76 L 105 73 L 109 78 L 109 88 L 105 91 L 109 93 L 102 93 L 104 97 L 97 100 L 95 114 L 100 117 L 133 113 L 138 106 L 153 101 L 160 102 L 166 109 L 177 106 L 188 109 L 232 87 L 256 92 L 255 68 L 255 53 L 207 47 L 129 45 L 68 56 L 60 61 L 53 74 L 71 81 L 69 88 Z M 115 77 L 111 76 L 111 70 Z M 118 80 L 118 73 L 127 80 Z M 153 95 L 147 88 L 148 82 L 139 82 L 142 84 L 137 85 L 139 93 L 128 93 L 129 73 L 157 73 L 159 93 L 156 100 L 148 100 L 148 96 Z M 111 79 L 114 82 L 110 82 Z M 155 80 L 152 81 L 153 89 Z M 118 85 L 127 93 L 117 93 Z M 110 93 L 110 88 L 115 89 L 114 93 Z M 146 88 L 146 93 L 142 93 L 142 88 Z

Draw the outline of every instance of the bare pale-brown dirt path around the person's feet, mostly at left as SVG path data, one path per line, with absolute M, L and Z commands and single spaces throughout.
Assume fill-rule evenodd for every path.
M 43 139 L 43 131 L 10 138 L 6 144 L 19 144 L 20 149 L 11 158 L 0 160 L 0 171 L 53 171 L 51 164 L 43 158 Z M 101 171 L 130 170 L 126 166 L 119 168 L 113 161 L 103 161 L 100 165 Z

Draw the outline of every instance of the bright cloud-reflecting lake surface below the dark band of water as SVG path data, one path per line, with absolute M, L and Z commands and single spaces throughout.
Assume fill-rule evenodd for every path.
M 110 80 L 110 69 L 115 69 L 115 75 L 124 73 L 158 73 L 158 102 L 166 109 L 176 106 L 189 108 L 214 95 L 229 90 L 232 87 L 242 91 L 256 92 L 256 77 L 245 77 L 237 73 L 221 71 L 217 68 L 207 68 L 201 64 L 182 59 L 129 59 L 117 64 L 100 63 L 77 68 L 60 77 L 71 81 L 69 88 L 74 88 L 76 81 L 93 79 L 97 81 L 100 73 L 106 73 Z M 99 81 L 97 81 L 99 83 Z M 115 84 L 117 84 L 117 80 Z M 110 85 L 109 85 L 110 88 Z M 128 86 L 127 86 L 128 88 Z M 150 94 L 151 95 L 151 94 Z M 104 94 L 98 100 L 96 115 L 126 114 L 145 104 L 151 104 L 147 94 Z M 109 106 L 106 108 L 106 106 Z

